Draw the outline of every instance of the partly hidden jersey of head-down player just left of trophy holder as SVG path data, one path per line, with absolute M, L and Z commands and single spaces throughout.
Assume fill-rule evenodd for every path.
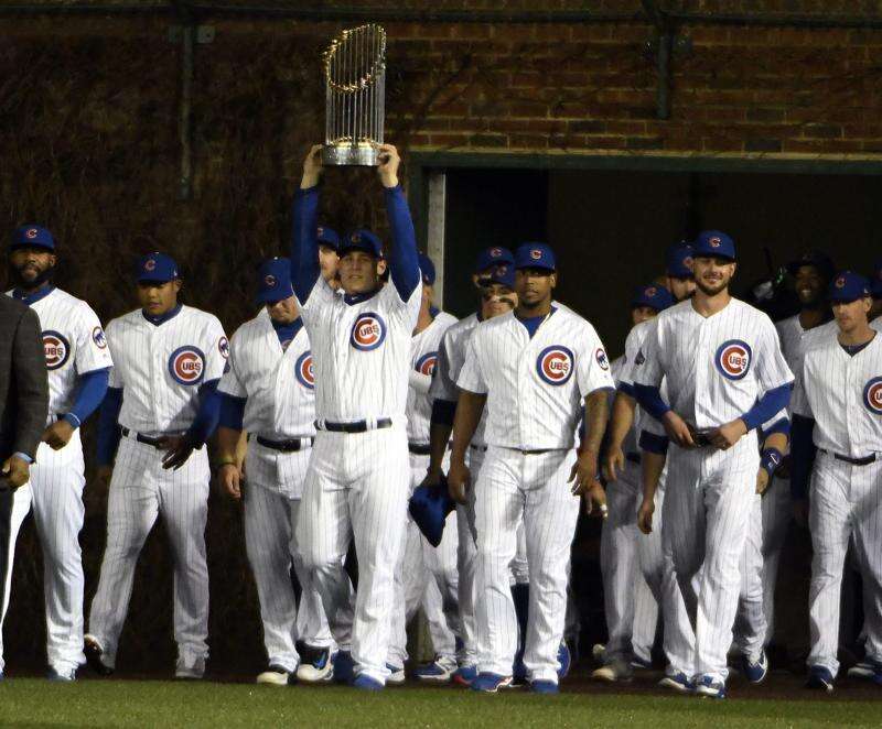
M 243 426 L 271 439 L 315 435 L 312 351 L 301 328 L 282 349 L 266 309 L 243 324 L 229 342 L 220 392 L 247 398 Z

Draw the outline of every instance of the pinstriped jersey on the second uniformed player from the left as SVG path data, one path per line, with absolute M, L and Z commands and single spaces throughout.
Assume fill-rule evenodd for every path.
M 136 309 L 107 325 L 110 387 L 122 388 L 119 424 L 138 433 L 184 431 L 198 409 L 198 385 L 224 373 L 229 344 L 213 314 L 191 306 L 159 326 Z

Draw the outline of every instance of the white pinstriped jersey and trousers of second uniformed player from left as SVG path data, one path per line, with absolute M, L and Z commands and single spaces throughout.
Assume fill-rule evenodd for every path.
M 138 435 L 185 433 L 197 413 L 200 385 L 224 373 L 229 344 L 216 316 L 190 306 L 159 325 L 140 309 L 130 312 L 110 322 L 107 341 L 114 355 L 110 387 L 122 389 L 122 438 L 110 480 L 107 547 L 89 634 L 104 651 L 101 661 L 114 667 L 138 554 L 161 514 L 174 556 L 178 664 L 198 666 L 208 654 L 208 455 L 200 448 L 178 470 L 165 470 L 162 451 Z

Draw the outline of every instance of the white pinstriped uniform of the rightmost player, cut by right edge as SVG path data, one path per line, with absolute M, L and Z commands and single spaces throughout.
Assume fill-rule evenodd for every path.
M 840 584 L 849 540 L 863 577 L 865 661 L 882 662 L 882 338 L 876 336 L 854 356 L 832 333 L 813 338 L 797 378 L 793 412 L 815 420 L 818 448 L 809 494 L 814 556 L 808 664 L 836 676 Z

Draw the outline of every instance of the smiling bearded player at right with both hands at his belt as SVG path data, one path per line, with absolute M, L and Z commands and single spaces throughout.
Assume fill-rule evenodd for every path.
M 793 374 L 768 317 L 729 294 L 732 239 L 700 233 L 692 270 L 695 296 L 658 316 L 637 356 L 635 394 L 675 445 L 663 540 L 696 635 L 678 668 L 698 694 L 723 697 L 760 468 L 756 427 L 786 407 Z M 670 405 L 659 394 L 663 378 Z

